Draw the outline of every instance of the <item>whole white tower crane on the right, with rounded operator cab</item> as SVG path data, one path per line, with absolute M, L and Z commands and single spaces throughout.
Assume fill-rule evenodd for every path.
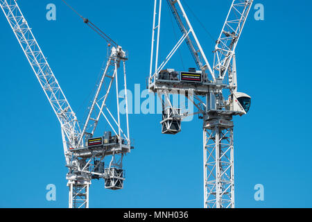
M 233 0 L 214 48 L 214 63 L 205 52 L 180 0 L 166 0 L 182 33 L 168 56 L 159 62 L 162 0 L 155 0 L 148 89 L 162 101 L 162 133 L 181 130 L 181 121 L 192 115 L 172 105 L 170 94 L 182 94 L 195 105 L 202 119 L 204 207 L 234 207 L 234 116 L 247 114 L 251 97 L 237 92 L 235 51 L 253 0 Z M 197 68 L 165 69 L 186 42 Z M 159 65 L 160 64 L 160 65 Z M 227 96 L 227 97 L 226 97 Z M 227 99 L 226 99 L 227 98 Z

